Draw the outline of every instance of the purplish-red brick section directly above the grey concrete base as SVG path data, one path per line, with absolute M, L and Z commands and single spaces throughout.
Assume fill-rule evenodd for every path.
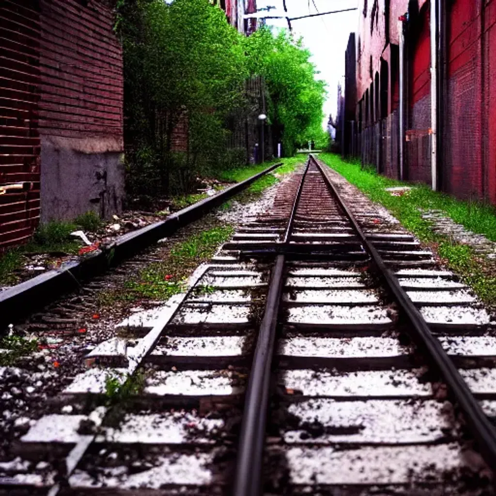
M 41 0 L 40 132 L 123 135 L 122 50 L 103 4 Z

